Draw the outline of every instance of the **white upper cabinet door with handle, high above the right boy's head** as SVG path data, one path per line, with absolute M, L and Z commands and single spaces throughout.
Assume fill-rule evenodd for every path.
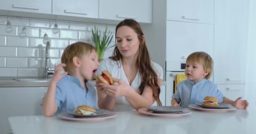
M 213 24 L 214 0 L 167 0 L 167 20 Z

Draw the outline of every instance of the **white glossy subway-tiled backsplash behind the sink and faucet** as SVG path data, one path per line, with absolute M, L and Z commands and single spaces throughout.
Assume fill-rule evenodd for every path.
M 11 22 L 13 31 L 5 31 L 6 21 Z M 32 18 L 16 18 L 0 16 L 0 77 L 42 77 L 45 65 L 45 44 L 43 36 L 47 33 L 50 38 L 50 60 L 48 67 L 61 62 L 61 55 L 65 47 L 76 41 L 84 41 L 93 45 L 91 29 L 98 27 L 105 30 L 103 24 L 77 23 L 56 21 L 59 33 L 53 34 L 54 20 L 40 20 Z M 21 38 L 19 33 L 23 27 L 27 29 L 27 36 Z M 108 30 L 115 36 L 115 26 L 108 25 Z M 113 38 L 111 44 L 115 44 Z M 108 49 L 104 58 L 112 55 L 113 48 Z

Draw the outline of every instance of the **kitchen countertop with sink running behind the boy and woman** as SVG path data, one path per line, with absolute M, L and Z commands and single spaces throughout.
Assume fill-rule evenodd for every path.
M 0 88 L 6 87 L 48 87 L 50 81 L 17 81 L 13 79 L 38 79 L 42 77 L 0 77 Z M 95 80 L 91 81 L 95 85 Z M 162 85 L 166 85 L 163 81 Z

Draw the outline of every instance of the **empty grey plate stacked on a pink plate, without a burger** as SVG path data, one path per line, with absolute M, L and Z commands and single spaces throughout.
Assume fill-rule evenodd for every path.
M 151 106 L 147 108 L 149 111 L 153 111 L 154 113 L 173 113 L 173 112 L 181 112 L 183 108 L 177 108 L 172 106 Z

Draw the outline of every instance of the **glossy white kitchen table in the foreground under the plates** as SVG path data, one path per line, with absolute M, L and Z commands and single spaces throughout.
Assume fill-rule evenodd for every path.
M 176 118 L 117 112 L 103 121 L 67 121 L 58 117 L 16 116 L 9 122 L 14 134 L 256 134 L 256 108 L 205 112 Z

